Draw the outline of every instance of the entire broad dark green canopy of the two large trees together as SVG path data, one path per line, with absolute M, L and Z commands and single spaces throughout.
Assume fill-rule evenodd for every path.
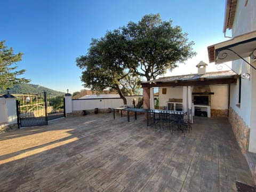
M 76 62 L 83 69 L 85 87 L 94 91 L 110 87 L 126 104 L 123 93 L 138 89 L 130 86 L 131 82 L 138 85 L 140 77 L 149 81 L 172 70 L 196 54 L 193 45 L 180 26 L 173 27 L 171 20 L 162 21 L 159 14 L 149 14 L 138 23 L 131 21 L 107 31 L 100 39 L 92 39 L 88 53 Z

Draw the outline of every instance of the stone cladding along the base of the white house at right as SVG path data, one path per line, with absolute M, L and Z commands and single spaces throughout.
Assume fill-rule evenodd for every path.
M 242 153 L 245 154 L 249 147 L 250 129 L 231 107 L 229 108 L 229 122 L 232 126 L 238 145 L 241 148 Z

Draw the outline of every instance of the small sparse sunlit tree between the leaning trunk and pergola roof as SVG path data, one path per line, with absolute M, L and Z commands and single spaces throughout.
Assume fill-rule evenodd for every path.
M 122 85 L 122 91 L 125 95 L 139 95 L 141 94 L 141 78 L 137 74 L 129 73 L 123 79 L 120 84 Z

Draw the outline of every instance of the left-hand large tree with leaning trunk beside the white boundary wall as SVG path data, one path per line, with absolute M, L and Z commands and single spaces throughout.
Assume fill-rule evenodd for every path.
M 92 39 L 88 53 L 76 59 L 76 65 L 84 69 L 81 80 L 85 87 L 97 92 L 116 90 L 124 105 L 127 101 L 120 82 L 130 73 L 125 41 L 119 30 L 107 31 L 104 37 Z

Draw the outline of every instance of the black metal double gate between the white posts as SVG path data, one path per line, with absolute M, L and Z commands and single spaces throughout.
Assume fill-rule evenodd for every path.
M 22 94 L 17 99 L 19 127 L 47 125 L 51 119 L 65 116 L 64 95 Z

